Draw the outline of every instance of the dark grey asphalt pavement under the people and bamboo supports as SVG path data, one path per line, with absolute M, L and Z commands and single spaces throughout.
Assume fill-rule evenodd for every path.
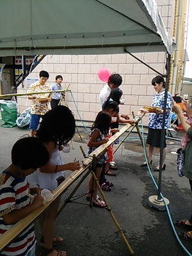
M 1 120 L 0 120 L 1 123 Z M 70 154 L 61 152 L 65 163 L 74 161 L 74 157 L 81 161 L 87 150 L 88 133 L 84 128 L 79 128 L 80 134 L 74 137 L 74 150 Z M 29 134 L 29 130 L 19 127 L 0 127 L 0 170 L 3 171 L 10 164 L 10 151 L 12 145 L 20 136 Z M 166 156 L 166 170 L 162 173 L 161 193 L 170 200 L 168 211 L 159 211 L 148 206 L 148 198 L 157 195 L 150 173 L 146 167 L 141 167 L 144 154 L 140 138 L 137 133 L 129 135 L 123 145 L 115 153 L 115 161 L 118 166 L 116 177 L 107 178 L 114 183 L 110 192 L 105 192 L 108 203 L 122 228 L 124 235 L 130 244 L 134 255 L 142 256 L 184 256 L 191 255 L 191 241 L 181 241 L 182 248 L 175 237 L 174 230 L 169 220 L 187 219 L 191 215 L 191 191 L 186 177 L 177 175 L 176 151 L 180 147 L 180 138 L 184 133 L 177 132 L 176 140 L 167 140 L 168 154 Z M 116 145 L 114 146 L 117 147 Z M 155 168 L 159 161 L 159 152 L 153 157 L 152 167 Z M 66 176 L 70 175 L 66 172 Z M 159 173 L 152 172 L 154 180 L 159 182 Z M 77 182 L 62 195 L 61 204 L 70 195 Z M 131 255 L 127 245 L 120 236 L 115 223 L 106 209 L 90 207 L 85 195 L 88 189 L 88 178 L 84 180 L 77 190 L 72 202 L 61 211 L 56 218 L 55 235 L 65 237 L 63 244 L 58 245 L 58 250 L 66 250 L 68 256 L 113 256 Z M 41 255 L 40 228 L 38 221 L 35 223 L 36 255 Z M 184 232 L 184 228 L 175 227 L 176 233 Z M 185 252 L 188 250 L 188 252 Z

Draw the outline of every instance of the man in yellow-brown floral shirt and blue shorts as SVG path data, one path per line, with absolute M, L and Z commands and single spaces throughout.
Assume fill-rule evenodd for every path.
M 33 92 L 50 92 L 51 86 L 47 85 L 47 79 L 49 78 L 49 73 L 47 71 L 40 71 L 39 81 L 31 84 L 28 93 Z M 32 100 L 31 107 L 31 122 L 29 129 L 31 129 L 31 136 L 35 136 L 39 121 L 41 116 L 45 115 L 47 111 L 51 109 L 49 102 L 51 101 L 50 93 L 40 93 L 28 96 L 29 100 Z

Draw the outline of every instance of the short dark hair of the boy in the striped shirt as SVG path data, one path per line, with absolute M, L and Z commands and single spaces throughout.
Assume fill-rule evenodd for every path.
M 22 170 L 40 168 L 49 161 L 49 152 L 44 143 L 35 137 L 16 141 L 12 148 L 12 163 Z

